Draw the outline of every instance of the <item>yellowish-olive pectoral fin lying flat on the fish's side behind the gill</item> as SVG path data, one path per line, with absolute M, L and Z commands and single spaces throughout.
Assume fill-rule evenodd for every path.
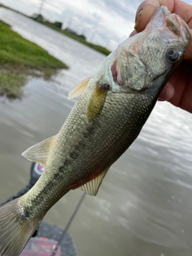
M 89 119 L 89 121 L 94 120 L 94 118 L 101 113 L 104 102 L 106 101 L 106 94 L 108 90 L 108 84 L 97 84 L 95 86 L 86 107 L 86 117 Z

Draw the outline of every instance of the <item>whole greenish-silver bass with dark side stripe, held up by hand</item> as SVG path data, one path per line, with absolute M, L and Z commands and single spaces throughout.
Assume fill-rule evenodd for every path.
M 78 100 L 58 134 L 22 154 L 46 169 L 26 194 L 0 207 L 0 255 L 19 255 L 70 190 L 98 193 L 110 166 L 138 137 L 191 38 L 186 22 L 161 6 L 145 30 L 122 42 L 70 92 Z

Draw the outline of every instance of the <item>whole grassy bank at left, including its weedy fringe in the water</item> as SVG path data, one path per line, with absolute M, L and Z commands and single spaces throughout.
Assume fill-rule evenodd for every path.
M 27 75 L 50 78 L 64 68 L 67 68 L 66 64 L 0 21 L 0 95 L 20 97 Z

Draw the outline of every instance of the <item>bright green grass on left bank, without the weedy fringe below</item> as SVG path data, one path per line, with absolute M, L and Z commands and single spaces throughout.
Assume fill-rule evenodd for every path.
M 22 38 L 11 30 L 9 25 L 0 21 L 0 66 L 7 64 L 18 68 L 41 70 L 45 73 L 46 70 L 67 68 L 46 50 Z

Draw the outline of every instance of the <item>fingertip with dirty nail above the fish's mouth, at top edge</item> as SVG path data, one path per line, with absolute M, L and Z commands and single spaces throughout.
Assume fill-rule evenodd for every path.
M 172 12 L 174 9 L 174 0 L 146 0 L 142 2 L 140 6 L 138 6 L 136 13 L 135 30 L 138 32 L 144 30 L 155 10 L 160 6 L 167 6 L 168 10 Z

